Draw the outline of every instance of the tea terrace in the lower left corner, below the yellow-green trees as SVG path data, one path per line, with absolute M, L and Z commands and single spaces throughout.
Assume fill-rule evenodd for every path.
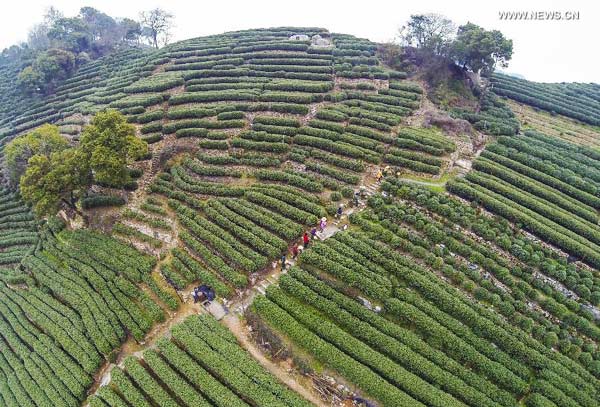
M 136 283 L 154 262 L 88 231 L 46 234 L 22 271 L 3 274 L 0 399 L 5 406 L 77 406 L 104 358 L 141 340 L 164 312 Z

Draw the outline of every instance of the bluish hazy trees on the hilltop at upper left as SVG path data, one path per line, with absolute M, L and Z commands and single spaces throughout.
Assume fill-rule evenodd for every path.
M 166 44 L 172 20 L 173 15 L 161 9 L 142 12 L 135 21 L 113 18 L 92 7 L 66 17 L 51 7 L 30 30 L 27 43 L 13 45 L 2 55 L 24 66 L 18 77 L 24 91 L 47 94 L 78 66 L 119 47 Z

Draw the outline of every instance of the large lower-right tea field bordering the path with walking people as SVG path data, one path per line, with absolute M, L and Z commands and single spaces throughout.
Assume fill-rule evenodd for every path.
M 564 258 L 460 200 L 386 181 L 401 200 L 372 198 L 252 312 L 386 406 L 597 405 L 598 363 L 573 352 L 595 352 L 590 304 L 576 315 L 560 283 L 537 280 Z M 535 260 L 512 249 L 525 242 Z

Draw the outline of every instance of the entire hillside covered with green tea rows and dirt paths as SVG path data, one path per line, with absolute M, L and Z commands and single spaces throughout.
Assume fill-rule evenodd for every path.
M 597 85 L 443 106 L 387 59 L 280 27 L 48 94 L 0 62 L 0 405 L 598 405 Z M 145 153 L 103 161 L 114 129 Z

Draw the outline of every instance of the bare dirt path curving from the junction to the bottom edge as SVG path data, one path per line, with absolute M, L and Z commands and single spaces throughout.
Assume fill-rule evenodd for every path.
M 235 335 L 240 345 L 248 351 L 258 363 L 260 363 L 265 369 L 282 381 L 286 386 L 300 394 L 302 397 L 310 401 L 311 403 L 327 407 L 322 400 L 317 398 L 308 389 L 298 383 L 298 380 L 289 372 L 285 371 L 279 365 L 271 362 L 267 359 L 263 353 L 256 347 L 251 338 L 248 337 L 247 331 L 240 323 L 239 318 L 235 314 L 228 314 L 223 318 L 223 323 L 229 330 Z

